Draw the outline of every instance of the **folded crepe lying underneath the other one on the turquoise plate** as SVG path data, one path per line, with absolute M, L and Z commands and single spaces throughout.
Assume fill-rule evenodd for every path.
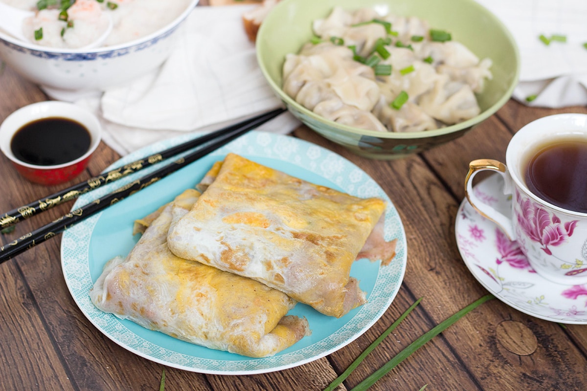
M 171 253 L 172 216 L 187 213 L 199 195 L 190 189 L 158 210 L 126 259 L 106 264 L 92 302 L 143 327 L 250 357 L 274 355 L 308 335 L 305 318 L 286 316 L 296 302 L 284 293 Z

